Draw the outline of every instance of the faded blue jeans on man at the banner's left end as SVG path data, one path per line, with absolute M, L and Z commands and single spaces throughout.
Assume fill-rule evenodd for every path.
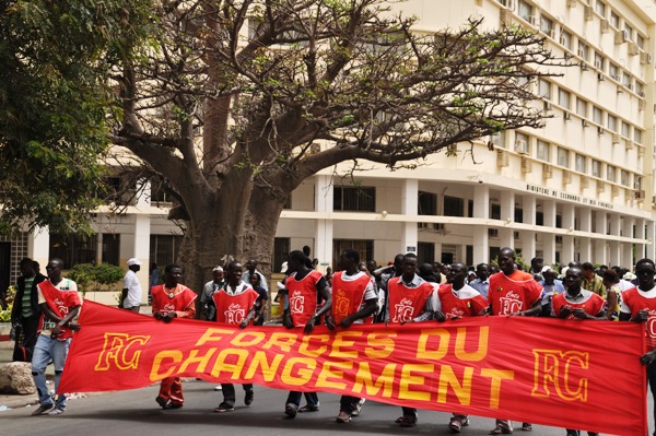
M 32 356 L 32 377 L 34 377 L 38 402 L 42 405 L 52 404 L 52 399 L 48 392 L 46 376 L 44 374 L 46 367 L 50 360 L 52 360 L 52 364 L 55 365 L 55 392 L 57 392 L 70 344 L 70 339 L 59 341 L 50 338 L 48 334 L 40 334 L 36 340 L 34 355 Z M 57 401 L 55 401 L 55 408 L 66 409 L 66 396 L 63 393 L 58 394 Z

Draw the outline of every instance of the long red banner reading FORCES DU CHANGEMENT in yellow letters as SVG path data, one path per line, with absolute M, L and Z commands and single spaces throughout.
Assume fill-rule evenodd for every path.
M 165 325 L 85 302 L 80 323 L 61 392 L 199 377 L 605 434 L 647 434 L 646 375 L 640 364 L 644 327 L 634 322 L 477 317 L 317 328 L 304 335 L 302 329 L 239 330 L 186 319 Z

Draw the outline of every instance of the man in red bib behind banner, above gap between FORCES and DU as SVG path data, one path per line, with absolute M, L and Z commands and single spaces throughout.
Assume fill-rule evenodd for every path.
M 385 323 L 403 325 L 433 319 L 437 309 L 435 287 L 417 274 L 417 255 L 407 254 L 400 266 L 401 275 L 387 283 L 389 304 Z M 402 416 L 396 420 L 401 427 L 414 427 L 419 417 L 415 408 L 401 408 Z

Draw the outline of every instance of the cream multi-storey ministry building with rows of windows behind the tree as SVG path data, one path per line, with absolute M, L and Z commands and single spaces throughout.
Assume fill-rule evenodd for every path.
M 398 4 L 396 7 L 399 7 Z M 450 148 L 417 169 L 347 164 L 308 178 L 282 213 L 273 269 L 308 245 L 323 267 L 343 248 L 387 262 L 415 251 L 420 261 L 488 261 L 509 246 L 525 258 L 631 267 L 654 256 L 654 58 L 656 5 L 649 0 L 410 0 L 417 32 L 519 25 L 539 32 L 573 67 L 529 85 L 547 119 Z M 147 191 L 150 187 L 147 186 Z M 72 249 L 46 231 L 0 243 L 2 270 L 28 255 L 69 262 L 130 257 L 160 264 L 175 258 L 180 232 L 165 220 L 166 198 L 98 210 L 97 236 Z M 142 282 L 148 269 L 144 268 Z M 0 286 L 3 284 L 0 283 Z

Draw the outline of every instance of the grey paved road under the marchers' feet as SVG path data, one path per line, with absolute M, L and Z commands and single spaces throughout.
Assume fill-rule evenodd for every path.
M 401 414 L 400 408 L 366 402 L 362 415 L 349 424 L 338 424 L 335 417 L 339 398 L 319 393 L 319 412 L 298 414 L 288 420 L 282 413 L 286 392 L 256 386 L 255 402 L 250 408 L 243 405 L 243 391 L 237 387 L 238 400 L 234 412 L 213 413 L 212 409 L 222 399 L 214 392 L 213 385 L 204 381 L 185 382 L 186 404 L 184 409 L 163 411 L 155 404 L 157 387 L 96 393 L 87 398 L 69 401 L 61 416 L 32 417 L 34 408 L 19 408 L 0 412 L 0 435 L 8 436 L 336 436 L 349 435 L 450 435 L 447 428 L 448 413 L 420 411 L 417 427 L 401 428 L 394 420 Z M 618 417 L 619 419 L 619 417 Z M 493 421 L 472 417 L 471 425 L 462 435 L 487 435 Z M 653 423 L 651 423 L 653 428 Z M 564 436 L 562 428 L 534 426 L 532 433 L 516 431 L 515 435 Z

